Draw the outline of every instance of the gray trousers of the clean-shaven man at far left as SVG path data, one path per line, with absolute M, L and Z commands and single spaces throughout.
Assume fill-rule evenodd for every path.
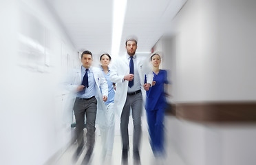
M 85 125 L 85 115 L 86 115 L 86 146 L 88 148 L 94 148 L 95 143 L 95 120 L 97 112 L 97 100 L 96 98 L 91 98 L 89 100 L 80 100 L 76 98 L 74 102 L 74 115 L 76 118 L 76 140 L 78 146 L 83 146 L 83 128 Z

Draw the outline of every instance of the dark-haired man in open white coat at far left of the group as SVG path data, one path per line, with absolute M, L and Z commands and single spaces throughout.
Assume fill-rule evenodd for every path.
M 75 70 L 65 80 L 65 87 L 74 93 L 74 115 L 76 118 L 76 140 L 78 148 L 75 159 L 81 155 L 84 146 L 83 129 L 86 116 L 87 152 L 84 162 L 89 162 L 95 143 L 95 120 L 97 111 L 103 111 L 107 100 L 107 81 L 100 69 L 92 66 L 92 53 L 84 51 L 81 54 L 81 69 Z M 100 92 L 100 88 L 102 94 Z

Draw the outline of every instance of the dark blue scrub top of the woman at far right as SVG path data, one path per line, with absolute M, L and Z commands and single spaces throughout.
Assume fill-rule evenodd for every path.
M 146 110 L 153 111 L 158 109 L 164 109 L 167 105 L 167 101 L 164 94 L 164 84 L 168 84 L 167 71 L 160 69 L 158 74 L 153 72 L 153 81 L 156 84 L 146 91 Z

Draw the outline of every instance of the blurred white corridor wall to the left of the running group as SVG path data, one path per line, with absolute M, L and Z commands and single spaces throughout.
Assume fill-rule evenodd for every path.
M 61 75 L 78 54 L 44 1 L 1 1 L 1 164 L 44 164 L 71 139 Z

